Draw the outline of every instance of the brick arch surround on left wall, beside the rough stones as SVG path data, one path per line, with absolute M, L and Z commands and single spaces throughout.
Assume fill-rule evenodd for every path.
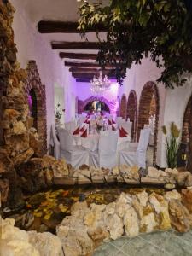
M 39 154 L 47 152 L 47 116 L 45 86 L 41 83 L 36 61 L 29 61 L 27 68 L 27 79 L 25 84 L 26 97 L 34 94 L 37 101 L 36 127 L 39 136 Z

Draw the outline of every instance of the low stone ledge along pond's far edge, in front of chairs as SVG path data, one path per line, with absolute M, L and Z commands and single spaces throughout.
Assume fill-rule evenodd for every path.
M 95 168 L 93 166 L 80 166 L 79 169 L 68 170 L 68 175 L 55 177 L 55 184 L 90 184 L 90 183 L 127 183 L 132 185 L 150 184 L 164 185 L 167 189 L 174 189 L 177 186 L 192 186 L 192 174 L 166 168 L 165 171 L 154 167 L 147 170 L 139 169 L 137 166 L 115 166 L 112 169 Z

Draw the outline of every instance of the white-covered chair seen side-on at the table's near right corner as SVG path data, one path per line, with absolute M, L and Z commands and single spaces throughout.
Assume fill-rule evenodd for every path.
M 131 148 L 131 143 L 129 143 L 129 148 L 119 151 L 119 165 L 146 168 L 149 134 L 150 129 L 141 130 L 137 149 Z

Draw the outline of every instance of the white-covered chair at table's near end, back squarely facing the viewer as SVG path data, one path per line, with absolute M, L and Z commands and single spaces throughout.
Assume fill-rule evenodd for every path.
M 90 166 L 112 168 L 117 165 L 117 131 L 102 133 L 99 138 L 98 150 L 90 152 Z

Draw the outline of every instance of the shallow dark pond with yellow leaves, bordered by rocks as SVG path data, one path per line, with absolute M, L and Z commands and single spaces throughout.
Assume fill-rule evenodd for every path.
M 135 195 L 146 189 L 148 193 L 156 192 L 164 195 L 165 189 L 131 188 L 125 184 L 119 185 L 87 185 L 69 189 L 49 189 L 35 195 L 26 195 L 26 205 L 19 211 L 3 212 L 3 217 L 15 218 L 15 225 L 23 230 L 50 231 L 55 233 L 56 225 L 71 214 L 71 207 L 76 201 L 108 204 L 115 201 L 121 192 Z

